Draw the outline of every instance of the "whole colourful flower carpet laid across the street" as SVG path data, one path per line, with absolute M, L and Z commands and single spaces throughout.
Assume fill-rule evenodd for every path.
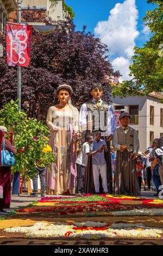
M 163 244 L 163 200 L 108 194 L 45 197 L 0 221 L 0 237 Z

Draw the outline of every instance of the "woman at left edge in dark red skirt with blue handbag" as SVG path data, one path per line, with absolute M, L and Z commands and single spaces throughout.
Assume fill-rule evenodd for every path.
M 15 163 L 12 154 L 17 152 L 16 148 L 12 147 L 10 141 L 5 139 L 7 133 L 7 128 L 0 126 L 0 214 L 7 213 L 3 209 L 10 208 L 11 166 Z

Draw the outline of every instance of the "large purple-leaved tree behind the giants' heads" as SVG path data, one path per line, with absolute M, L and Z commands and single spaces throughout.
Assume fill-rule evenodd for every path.
M 36 15 L 35 15 L 36 16 Z M 40 15 L 41 16 L 41 15 Z M 24 21 L 33 22 L 34 15 L 23 11 Z M 41 21 L 43 20 L 41 16 Z M 104 85 L 103 99 L 109 101 L 109 79 L 119 72 L 112 69 L 106 45 L 90 32 L 75 31 L 71 19 L 66 21 L 46 21 L 55 25 L 49 35 L 40 35 L 33 30 L 30 68 L 22 68 L 22 108 L 29 117 L 45 121 L 49 106 L 58 102 L 56 89 L 67 83 L 73 88 L 72 103 L 79 108 L 90 99 L 89 89 L 94 82 Z M 5 36 L 0 36 L 5 47 Z M 6 52 L 0 58 L 0 99 L 3 107 L 17 97 L 17 68 L 7 65 Z

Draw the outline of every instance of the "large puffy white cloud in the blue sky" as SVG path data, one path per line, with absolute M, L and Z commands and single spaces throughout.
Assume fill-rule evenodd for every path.
M 95 34 L 102 42 L 108 45 L 110 56 L 116 55 L 112 61 L 114 69 L 120 66 L 123 79 L 130 79 L 130 59 L 134 54 L 135 39 L 139 35 L 137 31 L 138 10 L 135 0 L 125 0 L 122 4 L 117 3 L 110 11 L 108 21 L 99 21 L 95 27 Z M 126 61 L 124 61 L 126 60 Z M 121 64 L 123 63 L 123 66 Z

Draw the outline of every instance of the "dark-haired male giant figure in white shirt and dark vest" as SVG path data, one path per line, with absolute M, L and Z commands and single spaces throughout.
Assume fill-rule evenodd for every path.
M 108 191 L 112 193 L 110 141 L 116 130 L 116 121 L 111 104 L 102 100 L 103 90 L 103 86 L 100 83 L 93 84 L 90 89 L 92 100 L 82 105 L 79 114 L 79 125 L 82 131 L 85 132 L 85 138 L 87 135 L 92 135 L 95 138 L 96 132 L 100 131 L 101 136 L 106 139 L 108 152 L 105 152 L 105 159 Z M 91 157 L 89 157 L 85 173 L 84 193 L 95 193 Z

